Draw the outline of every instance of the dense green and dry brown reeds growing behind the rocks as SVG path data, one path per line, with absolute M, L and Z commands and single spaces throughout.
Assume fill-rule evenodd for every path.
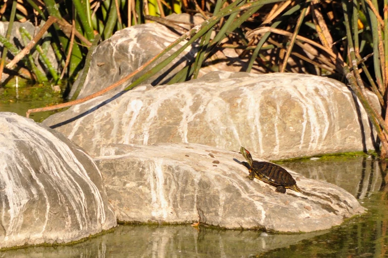
M 182 31 L 165 19 L 166 15 L 182 12 L 199 14 L 206 20 L 198 27 Z M 5 37 L 0 36 L 3 46 L 0 79 L 5 69 L 7 73 L 13 72 L 18 78 L 38 84 L 66 85 L 68 82 L 67 85 L 71 85 L 81 76 L 82 86 L 91 59 L 88 53 L 99 40 L 109 39 L 117 30 L 145 22 L 162 23 L 180 31 L 182 36 L 124 78 L 128 80 L 137 72 L 148 70 L 128 85 L 127 90 L 157 73 L 194 41 L 200 43 L 195 60 L 169 83 L 197 78 L 205 61 L 223 48 L 235 48 L 240 58 L 249 60 L 241 71 L 251 72 L 254 68 L 263 73 L 333 77 L 348 84 L 361 100 L 377 129 L 381 158 L 388 157 L 388 0 L 4 0 L 0 3 L 0 19 L 9 22 Z M 14 21 L 30 21 L 39 28 L 35 35 L 20 30 L 22 49 L 9 41 Z M 39 41 L 46 31 L 51 36 L 49 43 Z M 215 32 L 214 38 L 211 38 L 212 32 Z M 184 40 L 187 43 L 181 49 L 172 56 L 165 56 L 169 49 Z M 47 44 L 55 49 L 58 69 L 46 56 Z M 45 72 L 37 69 L 33 54 L 39 56 Z M 149 69 L 154 62 L 159 64 Z M 114 86 L 117 83 L 104 92 Z M 380 107 L 369 100 L 368 90 L 378 96 Z M 86 98 L 45 110 L 84 100 Z M 29 112 L 36 111 L 42 109 Z

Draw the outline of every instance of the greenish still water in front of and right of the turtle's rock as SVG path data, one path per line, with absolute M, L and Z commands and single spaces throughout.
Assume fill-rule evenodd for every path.
M 358 156 L 279 165 L 339 185 L 358 198 L 368 213 L 330 230 L 289 235 L 189 225 L 120 225 L 82 243 L 11 250 L 0 252 L 0 257 L 388 257 L 388 194 L 378 161 Z

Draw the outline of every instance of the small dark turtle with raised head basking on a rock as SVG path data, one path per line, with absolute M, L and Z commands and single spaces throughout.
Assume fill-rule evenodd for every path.
M 255 177 L 263 182 L 276 186 L 276 192 L 285 193 L 285 189 L 289 188 L 295 192 L 301 193 L 302 190 L 296 185 L 295 179 L 292 175 L 280 166 L 269 162 L 259 162 L 252 159 L 252 155 L 244 147 L 240 148 L 242 156 L 247 160 L 243 165 L 249 166 L 250 180 Z

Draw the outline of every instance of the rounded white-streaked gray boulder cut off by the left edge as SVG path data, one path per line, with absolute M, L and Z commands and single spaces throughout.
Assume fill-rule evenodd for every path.
M 101 172 L 60 133 L 0 113 L 0 249 L 76 241 L 116 225 Z

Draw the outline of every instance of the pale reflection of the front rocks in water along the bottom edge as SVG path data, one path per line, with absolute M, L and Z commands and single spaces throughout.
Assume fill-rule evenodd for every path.
M 261 235 L 259 231 L 191 226 L 118 226 L 114 232 L 62 247 L 31 247 L 0 252 L 7 258 L 248 257 L 288 247 L 328 231 L 297 235 Z

